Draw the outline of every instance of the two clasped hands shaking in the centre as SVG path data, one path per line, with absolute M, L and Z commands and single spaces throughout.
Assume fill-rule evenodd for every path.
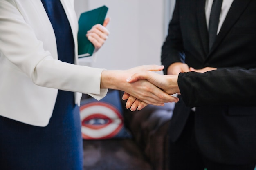
M 164 66 L 146 65 L 124 71 L 108 71 L 101 73 L 101 88 L 112 88 L 124 91 L 123 100 L 127 99 L 126 108 L 132 111 L 141 110 L 148 104 L 164 106 L 167 102 L 178 102 L 178 75 L 160 75 L 153 71 L 161 71 Z

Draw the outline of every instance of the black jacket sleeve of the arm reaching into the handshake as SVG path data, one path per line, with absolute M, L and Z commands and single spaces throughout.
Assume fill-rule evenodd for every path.
M 178 85 L 186 106 L 256 106 L 256 69 L 180 73 Z

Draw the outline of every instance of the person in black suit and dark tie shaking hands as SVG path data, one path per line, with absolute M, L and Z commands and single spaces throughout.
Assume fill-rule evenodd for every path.
M 209 40 L 214 3 L 176 0 L 162 46 L 164 74 L 177 81 L 180 73 L 170 170 L 253 170 L 256 164 L 256 1 L 223 0 L 215 40 Z

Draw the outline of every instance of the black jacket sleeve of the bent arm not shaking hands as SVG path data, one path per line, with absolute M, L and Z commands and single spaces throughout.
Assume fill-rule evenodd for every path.
M 174 62 L 184 60 L 182 34 L 180 29 L 179 0 L 176 1 L 173 18 L 168 27 L 168 35 L 162 45 L 161 62 L 164 65 L 164 74 L 167 68 Z

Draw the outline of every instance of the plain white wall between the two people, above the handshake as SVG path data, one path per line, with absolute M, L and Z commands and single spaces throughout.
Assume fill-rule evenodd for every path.
M 75 0 L 75 2 L 78 15 L 102 5 L 109 8 L 107 16 L 111 21 L 107 29 L 110 35 L 98 51 L 96 62 L 91 66 L 128 69 L 144 64 L 161 64 L 161 46 L 167 29 L 166 0 Z

